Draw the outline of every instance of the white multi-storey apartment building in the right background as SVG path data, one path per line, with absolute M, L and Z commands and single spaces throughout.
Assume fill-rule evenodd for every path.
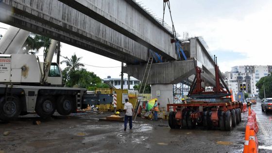
M 240 92 L 240 84 L 246 84 L 246 92 L 250 97 L 256 97 L 259 93 L 256 83 L 271 72 L 272 66 L 236 66 L 230 72 L 224 73 L 225 83 L 234 94 Z

